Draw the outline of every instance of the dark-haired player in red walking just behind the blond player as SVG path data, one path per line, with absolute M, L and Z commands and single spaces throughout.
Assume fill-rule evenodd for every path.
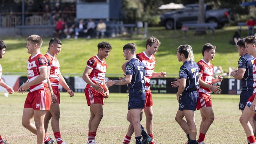
M 55 55 L 59 55 L 59 52 L 61 51 L 61 41 L 57 38 L 52 38 L 49 42 L 48 51 L 45 54 L 45 57 L 48 61 L 48 75 L 50 81 L 50 91 L 52 95 L 52 104 L 50 107 L 50 111 L 47 111 L 45 114 L 45 132 L 48 128 L 48 123 L 50 119 L 52 118 L 52 131 L 54 132 L 54 137 L 56 139 L 57 144 L 66 144 L 61 138 L 61 134 L 59 131 L 59 103 L 60 103 L 60 94 L 59 94 L 59 84 L 67 90 L 70 97 L 74 96 L 74 92 L 70 90 L 69 86 L 67 85 L 65 79 L 61 75 L 61 72 L 59 70 L 59 61 Z M 51 89 L 52 88 L 52 89 Z

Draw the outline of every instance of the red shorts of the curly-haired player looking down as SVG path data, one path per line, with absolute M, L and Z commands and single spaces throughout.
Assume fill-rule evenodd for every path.
M 88 106 L 95 103 L 101 103 L 104 105 L 104 93 L 98 92 L 93 88 L 85 88 L 84 93 Z

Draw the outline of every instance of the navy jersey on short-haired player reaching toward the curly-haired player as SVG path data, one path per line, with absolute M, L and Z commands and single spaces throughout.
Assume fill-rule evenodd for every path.
M 132 81 L 128 85 L 129 101 L 146 100 L 145 93 L 145 67 L 139 59 L 131 59 L 126 63 L 126 75 L 132 75 Z

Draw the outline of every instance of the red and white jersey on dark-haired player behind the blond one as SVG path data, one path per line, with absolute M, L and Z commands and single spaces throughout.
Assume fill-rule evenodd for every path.
M 57 57 L 53 57 L 49 53 L 45 54 L 45 57 L 48 61 L 48 67 L 51 68 L 50 70 L 50 76 L 49 79 L 51 81 L 52 89 L 58 89 L 59 88 L 59 61 Z

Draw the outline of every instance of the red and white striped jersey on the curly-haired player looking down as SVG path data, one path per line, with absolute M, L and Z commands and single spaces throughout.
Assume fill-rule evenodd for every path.
M 106 70 L 107 70 L 107 64 L 106 61 L 104 60 L 100 60 L 98 58 L 97 55 L 95 55 L 94 57 L 91 57 L 88 61 L 87 61 L 87 65 L 88 68 L 93 69 L 93 71 L 91 72 L 91 74 L 89 75 L 91 81 L 93 81 L 93 83 L 100 83 L 100 86 L 103 87 L 103 81 L 105 79 L 105 74 L 106 74 Z M 86 88 L 92 87 L 91 85 L 87 84 Z

